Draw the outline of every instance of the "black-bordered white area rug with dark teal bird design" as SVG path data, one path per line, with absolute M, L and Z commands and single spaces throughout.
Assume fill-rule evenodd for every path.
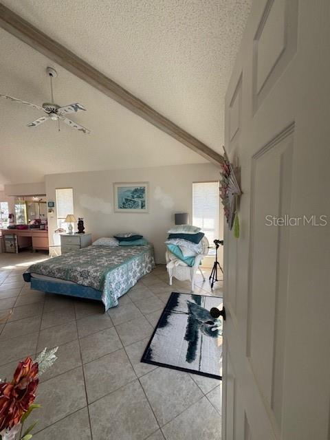
M 221 379 L 222 318 L 212 307 L 222 298 L 173 292 L 141 362 Z

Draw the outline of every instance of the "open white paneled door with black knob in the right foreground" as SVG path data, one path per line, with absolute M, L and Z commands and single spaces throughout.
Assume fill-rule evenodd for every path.
M 225 109 L 223 440 L 330 438 L 329 60 L 329 0 L 254 2 Z

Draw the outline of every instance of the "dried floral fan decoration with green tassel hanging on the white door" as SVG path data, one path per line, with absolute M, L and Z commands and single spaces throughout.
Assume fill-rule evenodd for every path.
M 227 220 L 229 229 L 232 230 L 234 225 L 234 236 L 239 238 L 239 217 L 237 214 L 237 198 L 241 195 L 241 188 L 236 179 L 234 168 L 228 159 L 228 155 L 223 147 L 224 155 L 221 162 L 221 181 L 220 181 L 220 197 L 223 204 L 223 212 Z

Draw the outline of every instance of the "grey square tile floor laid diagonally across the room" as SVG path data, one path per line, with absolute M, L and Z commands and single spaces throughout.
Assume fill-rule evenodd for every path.
M 144 276 L 104 314 L 88 300 L 30 289 L 22 273 L 45 254 L 0 254 L 0 377 L 44 347 L 58 360 L 41 376 L 35 440 L 218 440 L 221 382 L 142 364 L 140 358 L 170 292 L 164 265 Z M 208 275 L 209 270 L 205 270 Z M 221 296 L 197 281 L 195 294 Z M 30 421 L 32 421 L 33 416 Z

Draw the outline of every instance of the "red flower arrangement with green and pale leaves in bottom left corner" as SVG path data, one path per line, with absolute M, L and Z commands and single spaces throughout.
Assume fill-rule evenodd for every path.
M 30 440 L 32 430 L 38 421 L 24 429 L 24 423 L 31 412 L 41 405 L 34 404 L 39 376 L 56 361 L 56 351 L 44 349 L 32 360 L 30 356 L 19 362 L 11 382 L 0 380 L 0 440 Z

